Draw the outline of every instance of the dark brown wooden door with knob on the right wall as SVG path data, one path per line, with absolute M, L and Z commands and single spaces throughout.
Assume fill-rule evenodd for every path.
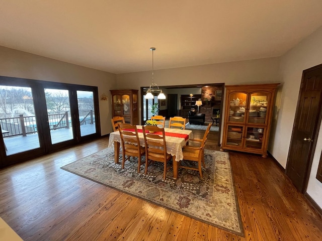
M 286 174 L 305 191 L 320 125 L 322 65 L 304 70 L 288 154 Z

